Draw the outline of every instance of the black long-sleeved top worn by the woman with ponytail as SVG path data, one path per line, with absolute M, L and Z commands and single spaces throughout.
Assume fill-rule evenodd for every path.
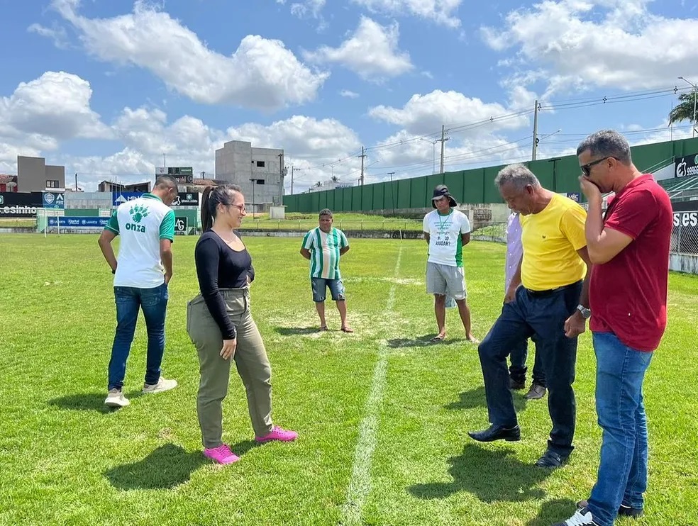
M 248 284 L 248 276 L 250 281 L 255 279 L 252 256 L 247 248 L 233 250 L 218 234 L 207 230 L 196 242 L 194 260 L 206 307 L 221 329 L 223 340 L 233 340 L 236 328 L 228 318 L 220 289 L 241 289 Z

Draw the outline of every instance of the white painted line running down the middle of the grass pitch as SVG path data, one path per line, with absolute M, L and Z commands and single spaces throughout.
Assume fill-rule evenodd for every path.
M 395 278 L 397 278 L 400 272 L 402 247 L 404 247 L 404 245 L 400 245 L 400 250 L 397 252 L 394 273 Z M 396 290 L 397 283 L 390 287 L 383 315 L 392 314 Z M 373 460 L 373 452 L 376 449 L 376 437 L 378 425 L 380 423 L 380 406 L 383 402 L 383 394 L 385 392 L 388 354 L 387 345 L 381 343 L 378 349 L 378 362 L 373 371 L 371 391 L 364 409 L 365 415 L 359 424 L 359 440 L 356 443 L 354 452 L 351 479 L 347 489 L 347 500 L 342 508 L 342 517 L 340 519 L 340 525 L 342 526 L 361 524 L 366 497 L 371 491 L 371 463 Z

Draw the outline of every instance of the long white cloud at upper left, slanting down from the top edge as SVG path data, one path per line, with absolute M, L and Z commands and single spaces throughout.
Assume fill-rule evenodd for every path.
M 79 0 L 53 5 L 92 55 L 148 69 L 197 102 L 273 110 L 313 100 L 328 77 L 299 62 L 280 40 L 259 35 L 245 36 L 229 57 L 209 50 L 194 32 L 144 0 L 135 1 L 133 13 L 113 18 L 80 16 Z

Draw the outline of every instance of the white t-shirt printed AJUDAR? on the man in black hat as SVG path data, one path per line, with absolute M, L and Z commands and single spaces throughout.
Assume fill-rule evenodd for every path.
M 463 266 L 463 242 L 461 234 L 470 233 L 470 220 L 461 211 L 451 208 L 448 216 L 442 216 L 438 210 L 424 216 L 422 230 L 428 233 L 428 262 Z

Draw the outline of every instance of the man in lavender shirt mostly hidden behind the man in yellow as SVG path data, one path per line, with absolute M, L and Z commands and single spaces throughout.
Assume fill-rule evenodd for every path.
M 519 267 L 521 257 L 524 256 L 524 247 L 521 246 L 521 221 L 519 213 L 512 212 L 506 224 L 506 269 L 504 279 L 504 293 L 509 289 L 511 279 Z M 535 338 L 535 336 L 533 336 Z M 536 340 L 533 340 L 535 343 Z M 511 366 L 509 367 L 509 386 L 512 389 L 526 387 L 526 357 L 528 355 L 528 341 L 524 340 L 514 349 L 511 349 Z M 536 357 L 533 362 L 533 384 L 526 393 L 528 400 L 538 400 L 545 396 L 545 373 L 543 365 L 538 358 L 540 353 L 536 349 Z

